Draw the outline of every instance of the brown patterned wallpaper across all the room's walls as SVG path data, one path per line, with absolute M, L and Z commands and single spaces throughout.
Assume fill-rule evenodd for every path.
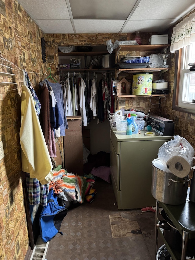
M 147 44 L 151 34 L 143 34 L 143 44 Z M 41 58 L 41 37 L 46 39 L 46 63 Z M 15 0 L 0 0 L 0 55 L 14 63 L 1 59 L 1 64 L 12 67 L 15 77 L 0 76 L 0 82 L 16 82 L 16 85 L 0 86 L 0 141 L 3 141 L 5 157 L 0 161 L 0 259 L 23 260 L 28 249 L 27 222 L 24 208 L 21 150 L 19 143 L 20 96 L 23 82 L 23 66 L 38 93 L 38 83 L 42 74 L 51 65 L 58 64 L 59 45 L 105 45 L 106 41 L 133 40 L 135 34 L 43 34 L 23 7 Z M 153 109 L 154 112 L 173 119 L 176 134 L 185 137 L 195 146 L 195 116 L 172 110 L 174 81 L 174 55 L 172 69 L 166 73 L 170 94 L 166 101 L 158 105 L 159 99 L 150 104 L 150 98 L 121 100 L 120 106 L 127 108 Z M 58 80 L 58 73 L 51 65 L 52 77 Z M 0 71 L 6 71 L 0 65 Z M 31 73 L 31 72 L 36 72 Z M 39 74 L 40 73 L 40 74 Z M 60 140 L 63 150 L 62 139 Z

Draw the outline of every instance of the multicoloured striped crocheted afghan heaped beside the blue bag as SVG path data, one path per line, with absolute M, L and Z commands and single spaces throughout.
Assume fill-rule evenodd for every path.
M 64 201 L 77 201 L 83 203 L 85 199 L 86 179 L 82 176 L 68 173 L 59 165 L 53 169 L 53 180 L 49 183 L 49 190 L 54 189 L 55 193 Z

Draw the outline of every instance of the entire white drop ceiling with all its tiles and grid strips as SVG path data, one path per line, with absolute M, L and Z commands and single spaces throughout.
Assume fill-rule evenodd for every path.
M 19 0 L 19 3 L 44 33 L 163 32 L 195 9 L 195 0 Z

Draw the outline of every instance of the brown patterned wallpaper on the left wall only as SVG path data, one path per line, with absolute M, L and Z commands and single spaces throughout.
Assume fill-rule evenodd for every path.
M 0 259 L 5 260 L 23 260 L 29 245 L 21 178 L 20 85 L 23 66 L 36 73 L 46 69 L 41 58 L 42 36 L 39 27 L 17 1 L 0 0 L 0 63 L 12 68 L 0 65 L 0 71 L 16 74 L 0 76 L 0 82 L 17 83 L 0 85 L 0 141 L 3 141 L 5 153 L 0 161 Z M 35 87 L 40 80 L 41 75 L 38 75 L 29 73 Z

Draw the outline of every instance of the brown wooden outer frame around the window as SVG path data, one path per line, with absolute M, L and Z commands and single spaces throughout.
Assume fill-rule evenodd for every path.
M 175 52 L 175 73 L 174 73 L 174 85 L 173 85 L 173 103 L 172 110 L 195 114 L 195 109 L 187 109 L 178 106 L 179 100 L 179 81 L 180 81 L 180 73 L 181 73 L 181 64 L 182 64 L 182 49 L 179 49 Z

